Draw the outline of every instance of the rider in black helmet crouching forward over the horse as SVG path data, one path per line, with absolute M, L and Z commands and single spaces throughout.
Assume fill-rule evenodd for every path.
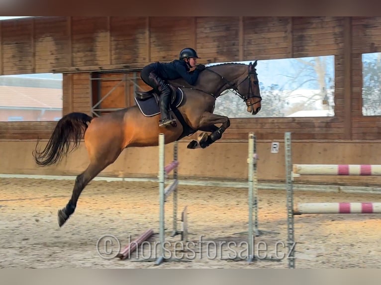
M 169 63 L 156 62 L 143 68 L 140 77 L 160 95 L 159 127 L 166 127 L 176 122 L 169 116 L 172 91 L 166 81 L 184 78 L 190 85 L 194 85 L 199 72 L 205 69 L 204 65 L 196 66 L 197 59 L 199 57 L 194 49 L 185 48 L 180 52 L 179 60 Z

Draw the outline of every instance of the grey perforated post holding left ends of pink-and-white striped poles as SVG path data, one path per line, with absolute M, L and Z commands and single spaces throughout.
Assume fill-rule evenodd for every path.
M 285 133 L 288 268 L 295 268 L 291 133 Z

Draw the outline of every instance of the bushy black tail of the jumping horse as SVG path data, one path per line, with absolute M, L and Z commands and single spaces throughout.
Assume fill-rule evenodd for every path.
M 57 123 L 48 143 L 42 151 L 37 150 L 39 139 L 33 153 L 38 165 L 46 166 L 61 161 L 63 156 L 78 148 L 81 138 L 93 120 L 85 113 L 73 112 L 63 116 Z

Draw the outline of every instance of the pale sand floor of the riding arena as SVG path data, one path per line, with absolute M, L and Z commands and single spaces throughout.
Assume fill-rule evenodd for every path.
M 117 237 L 123 248 L 128 236 L 137 238 L 146 229 L 159 241 L 159 195 L 157 183 L 91 182 L 82 193 L 76 212 L 59 228 L 57 210 L 71 197 L 74 181 L 0 179 L 0 268 L 157 268 L 152 262 L 103 259 L 96 250 L 105 235 Z M 247 189 L 179 186 L 179 214 L 188 206 L 190 241 L 214 242 L 208 250 L 190 247 L 189 262 L 166 262 L 159 268 L 287 268 L 288 262 L 225 260 L 235 253 L 245 255 L 247 235 Z M 380 195 L 295 192 L 298 202 L 380 202 Z M 175 245 L 180 236 L 170 236 L 172 196 L 166 203 L 167 241 Z M 321 214 L 295 216 L 296 268 L 381 268 L 381 214 Z M 259 190 L 260 229 L 270 233 L 255 238 L 260 257 L 286 254 L 286 193 Z M 180 221 L 178 222 L 180 228 Z M 225 242 L 225 244 L 224 244 Z M 244 242 L 238 246 L 240 242 Z M 264 245 L 267 250 L 264 250 Z M 178 244 L 179 245 L 179 244 Z M 182 253 L 168 247 L 172 256 Z M 217 252 L 216 252 L 217 251 Z M 140 251 L 141 253 L 141 251 Z M 149 257 L 145 247 L 143 257 Z M 209 254 L 209 256 L 207 256 Z M 215 256 L 215 254 L 217 256 Z M 195 255 L 195 256 L 194 256 Z M 256 252 L 256 255 L 258 253 Z M 151 255 L 153 257 L 153 255 Z

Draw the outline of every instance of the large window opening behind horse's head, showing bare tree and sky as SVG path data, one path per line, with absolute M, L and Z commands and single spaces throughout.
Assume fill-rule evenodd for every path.
M 334 116 L 334 56 L 258 61 L 257 72 L 263 100 L 255 117 Z M 217 99 L 215 113 L 253 117 L 231 91 Z

